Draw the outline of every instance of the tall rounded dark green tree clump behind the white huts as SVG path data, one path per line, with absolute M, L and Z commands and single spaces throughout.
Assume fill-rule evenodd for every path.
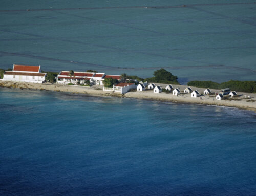
M 156 82 L 156 83 L 164 83 L 164 84 L 179 84 L 178 77 L 174 76 L 172 73 L 167 70 L 161 68 L 160 70 L 156 70 L 154 72 L 155 77 L 145 78 L 144 81 L 148 82 Z

